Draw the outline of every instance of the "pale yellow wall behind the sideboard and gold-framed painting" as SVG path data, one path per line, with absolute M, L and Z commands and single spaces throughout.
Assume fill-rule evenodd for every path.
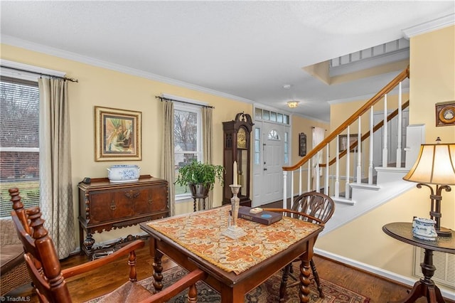
M 75 204 L 75 230 L 77 225 L 77 184 L 85 176 L 107 177 L 107 168 L 119 162 L 95 161 L 94 107 L 114 107 L 142 112 L 142 161 L 122 161 L 122 164 L 137 164 L 141 174 L 160 177 L 161 159 L 161 102 L 155 96 L 166 93 L 207 102 L 213 110 L 213 162 L 223 165 L 223 121 L 235 118 L 237 112 L 252 114 L 252 104 L 224 97 L 189 90 L 176 85 L 160 83 L 134 75 L 98 68 L 73 60 L 45 55 L 23 48 L 1 44 L 1 58 L 41 68 L 60 70 L 79 83 L 69 84 L 70 125 L 72 147 L 73 200 Z M 223 188 L 215 184 L 214 205 L 220 206 Z M 178 203 L 176 213 L 193 211 L 193 201 Z M 139 227 L 122 228 L 95 235 L 95 240 L 107 240 L 139 232 Z M 76 235 L 77 238 L 77 235 Z M 77 244 L 78 245 L 78 244 Z

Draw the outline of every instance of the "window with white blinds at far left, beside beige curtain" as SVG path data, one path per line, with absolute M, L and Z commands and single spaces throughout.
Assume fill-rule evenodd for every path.
M 26 208 L 39 206 L 38 83 L 2 76 L 0 94 L 0 217 L 7 217 L 11 187 Z

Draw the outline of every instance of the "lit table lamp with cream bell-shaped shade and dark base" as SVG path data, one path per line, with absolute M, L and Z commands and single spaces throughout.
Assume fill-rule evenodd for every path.
M 436 141 L 441 139 L 438 137 Z M 422 144 L 417 161 L 403 179 L 417 182 L 417 188 L 427 186 L 430 189 L 432 208 L 429 216 L 436 221 L 434 228 L 440 237 L 451 237 L 451 230 L 441 227 L 441 191 L 451 191 L 449 185 L 455 184 L 455 143 Z M 436 191 L 429 184 L 436 185 Z

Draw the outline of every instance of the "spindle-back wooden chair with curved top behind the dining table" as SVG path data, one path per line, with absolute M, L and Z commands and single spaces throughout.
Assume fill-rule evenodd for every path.
M 335 202 L 333 202 L 332 198 L 323 193 L 310 191 L 308 193 L 302 193 L 300 196 L 295 198 L 290 210 L 282 208 L 264 208 L 264 210 L 283 212 L 293 218 L 300 218 L 301 220 L 306 220 L 316 224 L 325 224 L 335 211 Z M 294 260 L 293 262 L 296 261 L 300 260 Z M 310 266 L 311 271 L 313 272 L 314 281 L 318 287 L 319 297 L 323 298 L 324 294 L 322 292 L 321 282 L 319 281 L 319 274 L 316 270 L 316 265 L 314 264 L 313 259 L 310 261 Z M 293 277 L 296 282 L 287 285 L 287 280 L 291 272 L 292 263 L 284 267 L 282 283 L 279 287 L 279 302 L 284 301 L 284 294 L 286 293 L 287 287 L 294 287 L 300 283 L 299 280 Z

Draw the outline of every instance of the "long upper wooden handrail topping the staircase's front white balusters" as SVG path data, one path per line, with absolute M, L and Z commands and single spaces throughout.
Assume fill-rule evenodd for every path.
M 376 95 L 374 95 L 368 102 L 366 102 L 362 107 L 360 107 L 356 112 L 353 113 L 348 119 L 346 119 L 343 124 L 341 124 L 339 127 L 337 127 L 333 132 L 328 134 L 328 136 L 322 140 L 321 143 L 316 145 L 314 149 L 311 149 L 306 156 L 304 156 L 302 159 L 300 159 L 297 164 L 294 164 L 293 166 L 283 166 L 283 171 L 294 171 L 295 169 L 298 169 L 300 166 L 305 164 L 309 159 L 311 159 L 313 156 L 316 156 L 316 154 L 321 151 L 324 147 L 326 147 L 327 144 L 329 144 L 333 139 L 338 136 L 338 134 L 341 134 L 343 130 L 348 128 L 350 124 L 353 124 L 358 117 L 361 115 L 365 114 L 370 108 L 375 105 L 381 98 L 391 92 L 400 82 L 405 80 L 406 78 L 410 77 L 410 67 L 409 65 L 405 70 L 403 70 L 397 77 L 395 77 L 390 83 L 385 85 L 385 87 L 382 88 Z

